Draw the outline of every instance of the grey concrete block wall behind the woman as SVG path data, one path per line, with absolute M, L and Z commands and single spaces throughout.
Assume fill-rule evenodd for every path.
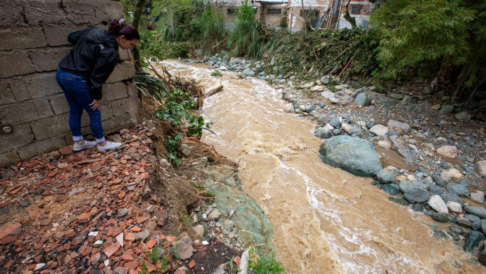
M 0 1 L 1 166 L 72 143 L 69 106 L 56 83 L 57 63 L 71 50 L 67 35 L 87 26 L 106 29 L 123 17 L 118 0 Z M 103 86 L 105 133 L 141 120 L 131 52 L 119 56 Z M 86 113 L 82 129 L 91 134 Z

